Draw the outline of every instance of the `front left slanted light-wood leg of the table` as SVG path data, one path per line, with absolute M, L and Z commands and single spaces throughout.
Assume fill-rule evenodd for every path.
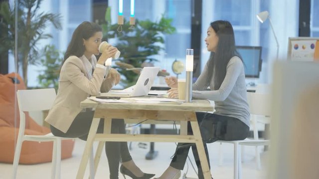
M 86 140 L 85 149 L 84 149 L 84 152 L 82 155 L 79 170 L 78 170 L 78 173 L 76 175 L 76 179 L 83 179 L 83 177 L 84 177 L 85 169 L 86 169 L 86 166 L 88 164 L 88 160 L 89 160 L 89 157 L 91 155 L 92 148 L 93 148 L 94 136 L 96 134 L 96 131 L 98 130 L 99 123 L 100 123 L 100 118 L 93 118 L 91 128 L 89 131 L 89 135 L 88 135 L 88 138 Z

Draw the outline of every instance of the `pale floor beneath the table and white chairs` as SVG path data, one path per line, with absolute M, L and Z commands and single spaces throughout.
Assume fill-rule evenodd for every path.
M 149 146 L 149 143 L 147 143 Z M 76 140 L 73 157 L 62 161 L 61 164 L 61 179 L 75 179 L 77 169 L 81 160 L 82 152 L 84 150 L 85 142 Z M 160 177 L 161 173 L 168 167 L 170 156 L 174 153 L 174 143 L 156 143 L 155 149 L 159 151 L 159 155 L 155 160 L 145 160 L 145 155 L 149 151 L 138 147 L 138 143 L 133 143 L 131 155 L 135 163 L 146 173 L 154 173 L 156 177 Z M 219 143 L 208 144 L 208 151 L 210 156 L 211 173 L 214 179 L 233 179 L 233 145 L 223 144 L 222 151 L 224 155 L 223 166 L 218 166 L 218 152 Z M 96 147 L 96 146 L 95 146 Z M 95 148 L 96 149 L 96 148 Z M 266 166 L 258 171 L 254 161 L 254 147 L 245 147 L 245 157 L 242 164 L 242 178 L 243 179 L 266 179 Z M 262 153 L 262 164 L 265 164 L 268 153 Z M 193 157 L 189 155 L 193 165 L 195 165 Z M 17 179 L 50 179 L 51 163 L 38 165 L 19 165 Z M 196 178 L 190 163 L 185 165 L 182 175 L 187 172 L 186 177 Z M 10 179 L 12 173 L 12 164 L 0 163 L 0 179 Z M 88 167 L 86 176 L 88 176 Z M 87 178 L 87 177 L 85 177 Z M 103 153 L 99 168 L 96 174 L 96 179 L 108 179 L 109 169 L 108 163 Z M 120 179 L 123 176 L 120 174 Z

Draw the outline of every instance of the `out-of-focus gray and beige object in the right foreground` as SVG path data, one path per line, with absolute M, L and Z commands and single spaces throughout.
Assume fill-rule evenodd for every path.
M 277 61 L 269 179 L 319 178 L 319 63 Z

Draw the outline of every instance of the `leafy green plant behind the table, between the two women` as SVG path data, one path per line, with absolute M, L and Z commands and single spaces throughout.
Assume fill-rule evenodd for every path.
M 110 8 L 107 9 L 105 17 L 106 22 L 110 22 Z M 154 55 L 158 55 L 161 50 L 164 50 L 164 35 L 175 32 L 175 27 L 171 26 L 171 22 L 172 19 L 164 16 L 156 22 L 136 19 L 135 26 L 132 28 L 129 21 L 124 19 L 122 32 L 118 32 L 118 24 L 106 23 L 102 25 L 102 28 L 104 39 L 117 39 L 117 43 L 112 44 L 121 51 L 121 56 L 116 64 L 141 68 L 146 63 L 158 61 Z M 127 71 L 123 67 L 116 68 L 126 78 L 121 80 L 124 87 L 130 87 L 136 83 L 137 73 Z

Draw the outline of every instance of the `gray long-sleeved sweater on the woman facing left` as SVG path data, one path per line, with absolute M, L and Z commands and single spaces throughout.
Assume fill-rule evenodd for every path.
M 249 106 L 245 83 L 244 65 L 239 57 L 234 56 L 227 64 L 226 76 L 218 90 L 205 90 L 209 86 L 214 89 L 214 79 L 207 84 L 208 61 L 203 72 L 193 84 L 194 98 L 215 101 L 215 114 L 235 117 L 250 126 Z

